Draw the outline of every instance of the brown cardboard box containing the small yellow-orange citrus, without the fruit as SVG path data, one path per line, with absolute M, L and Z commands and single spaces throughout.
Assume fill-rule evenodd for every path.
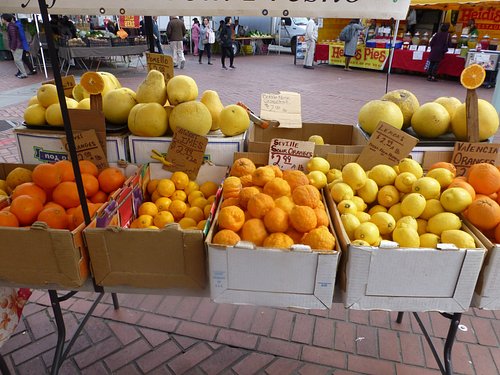
M 225 167 L 205 164 L 200 169 L 197 182 L 219 183 L 226 172 Z M 133 188 L 140 190 L 149 178 L 167 178 L 170 175 L 161 164 L 151 163 L 142 182 Z M 134 200 L 134 197 L 131 199 Z M 136 206 L 140 203 L 142 200 L 134 202 Z M 170 224 L 161 230 L 117 226 L 96 228 L 95 225 L 94 221 L 92 227 L 85 229 L 84 235 L 97 285 L 149 289 L 206 287 L 202 231 L 182 230 L 178 224 Z

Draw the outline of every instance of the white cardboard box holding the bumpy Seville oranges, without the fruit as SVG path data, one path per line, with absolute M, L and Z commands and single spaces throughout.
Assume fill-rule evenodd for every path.
M 252 158 L 252 155 L 242 153 L 235 158 Z M 267 154 L 263 159 L 267 163 Z M 330 230 L 335 235 L 332 223 Z M 234 247 L 215 245 L 212 238 L 216 232 L 217 215 L 206 239 L 210 294 L 215 302 L 330 308 L 340 258 L 337 239 L 333 252 L 311 252 L 304 245 L 295 245 L 295 250 L 286 251 L 255 247 L 248 242 Z

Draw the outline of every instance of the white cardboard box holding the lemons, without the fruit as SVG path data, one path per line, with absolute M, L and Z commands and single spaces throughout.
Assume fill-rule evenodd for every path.
M 328 159 L 333 168 L 340 167 L 332 155 Z M 338 280 L 346 308 L 450 313 L 469 309 L 486 249 L 465 225 L 462 229 L 474 237 L 475 249 L 354 246 L 329 193 L 326 201 L 343 251 Z

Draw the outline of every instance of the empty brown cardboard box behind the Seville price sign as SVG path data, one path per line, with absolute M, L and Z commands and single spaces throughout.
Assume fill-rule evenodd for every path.
M 314 154 L 326 157 L 328 153 L 360 153 L 368 142 L 356 126 L 339 124 L 303 123 L 302 128 L 268 128 L 252 126 L 248 135 L 248 151 L 268 153 L 271 139 L 285 138 L 307 141 L 311 135 L 320 135 L 325 145 L 316 145 Z

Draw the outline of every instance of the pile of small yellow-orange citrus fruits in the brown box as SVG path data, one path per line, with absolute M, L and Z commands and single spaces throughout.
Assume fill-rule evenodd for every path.
M 199 185 L 184 172 L 174 172 L 170 178 L 152 179 L 147 185 L 149 201 L 139 206 L 138 217 L 130 228 L 160 229 L 179 223 L 182 229 L 203 230 L 217 189 L 215 182 Z

